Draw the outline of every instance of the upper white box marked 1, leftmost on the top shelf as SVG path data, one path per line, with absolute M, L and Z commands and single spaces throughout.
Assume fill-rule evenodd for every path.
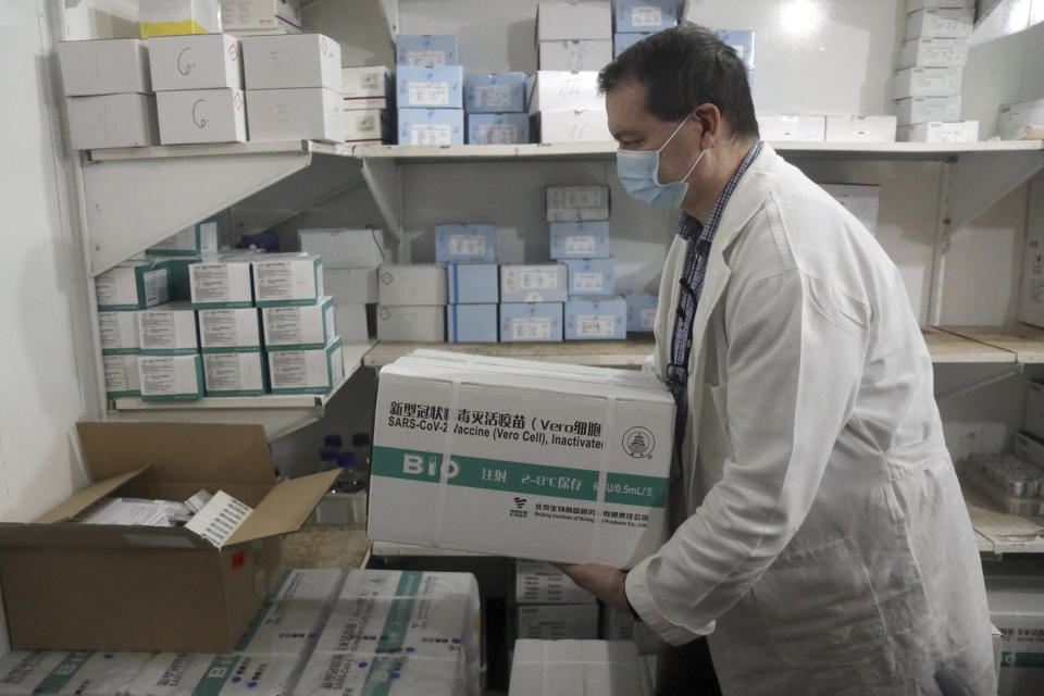
M 149 49 L 138 39 L 59 41 L 58 62 L 66 97 L 152 91 Z

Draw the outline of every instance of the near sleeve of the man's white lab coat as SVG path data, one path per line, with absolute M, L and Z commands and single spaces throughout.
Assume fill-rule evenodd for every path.
M 732 453 L 703 505 L 626 577 L 635 611 L 680 645 L 712 631 L 783 551 L 852 414 L 869 309 L 786 270 L 730 294 L 722 383 Z M 704 408 L 714 408 L 705 403 Z

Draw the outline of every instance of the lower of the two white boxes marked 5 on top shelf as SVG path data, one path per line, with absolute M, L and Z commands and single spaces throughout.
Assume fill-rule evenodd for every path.
M 340 95 L 332 89 L 251 89 L 247 123 L 251 140 L 325 140 L 340 142 Z

